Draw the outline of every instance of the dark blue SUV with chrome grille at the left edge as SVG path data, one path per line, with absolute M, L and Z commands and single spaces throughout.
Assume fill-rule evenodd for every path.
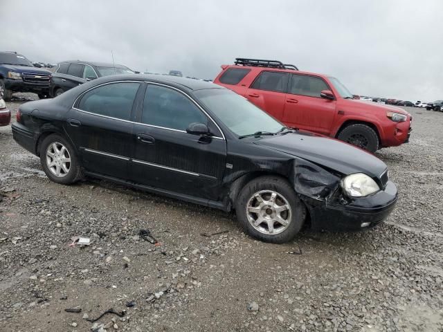
M 0 52 L 0 95 L 7 102 L 15 92 L 33 92 L 40 99 L 46 98 L 50 76 L 51 71 L 35 68 L 17 52 Z

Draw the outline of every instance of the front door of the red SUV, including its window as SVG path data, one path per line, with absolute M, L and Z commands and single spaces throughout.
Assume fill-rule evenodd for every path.
M 291 74 L 282 121 L 290 127 L 329 136 L 336 116 L 336 100 L 321 98 L 323 90 L 332 90 L 323 78 Z

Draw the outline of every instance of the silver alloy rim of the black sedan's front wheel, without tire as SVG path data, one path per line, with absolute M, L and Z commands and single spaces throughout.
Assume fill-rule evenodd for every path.
M 291 205 L 284 196 L 273 190 L 260 190 L 246 205 L 246 217 L 255 230 L 263 234 L 279 234 L 291 223 Z

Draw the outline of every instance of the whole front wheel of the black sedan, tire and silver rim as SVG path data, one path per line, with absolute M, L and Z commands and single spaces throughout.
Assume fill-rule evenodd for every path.
M 296 192 L 277 176 L 262 176 L 247 183 L 237 197 L 235 211 L 246 233 L 271 243 L 293 239 L 306 216 Z

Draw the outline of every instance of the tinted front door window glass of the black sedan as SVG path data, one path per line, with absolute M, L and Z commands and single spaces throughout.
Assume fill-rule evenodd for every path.
M 186 95 L 150 84 L 143 102 L 142 123 L 186 131 L 191 123 L 208 124 L 208 118 Z

